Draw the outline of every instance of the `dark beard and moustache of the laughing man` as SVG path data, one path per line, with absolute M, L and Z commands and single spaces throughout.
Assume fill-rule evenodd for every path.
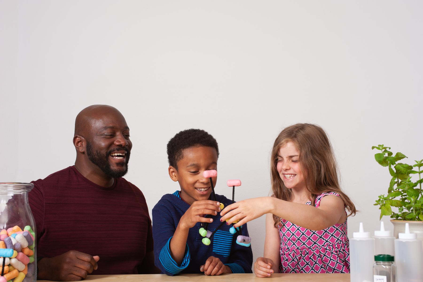
M 115 151 L 126 151 L 125 157 L 126 157 L 126 162 L 122 162 L 122 163 L 118 163 L 118 166 L 125 166 L 125 170 L 121 170 L 121 171 L 116 171 L 113 170 L 112 167 L 110 166 L 110 162 L 108 160 L 109 156 L 111 153 L 115 152 Z M 129 162 L 129 150 L 126 148 L 118 148 L 118 149 L 113 149 L 110 150 L 106 153 L 106 155 L 100 153 L 99 151 L 94 151 L 93 147 L 91 146 L 91 144 L 89 142 L 87 142 L 87 156 L 88 159 L 95 164 L 97 167 L 100 168 L 100 170 L 102 170 L 102 172 L 104 172 L 105 175 L 112 177 L 112 178 L 118 178 L 118 177 L 122 177 L 126 174 L 126 172 L 128 172 L 128 162 Z

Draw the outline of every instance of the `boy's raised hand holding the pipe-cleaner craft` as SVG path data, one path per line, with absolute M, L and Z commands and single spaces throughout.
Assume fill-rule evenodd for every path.
M 179 225 L 186 229 L 194 227 L 197 222 L 213 222 L 213 219 L 201 217 L 205 214 L 217 215 L 220 203 L 211 200 L 201 200 L 192 203 L 189 209 L 179 220 Z

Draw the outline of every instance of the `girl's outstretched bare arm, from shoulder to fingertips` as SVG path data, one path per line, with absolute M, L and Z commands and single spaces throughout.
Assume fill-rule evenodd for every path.
M 345 207 L 341 198 L 327 195 L 321 199 L 319 208 L 275 197 L 242 200 L 224 208 L 220 212 L 222 216 L 220 220 L 231 218 L 230 222 L 233 222 L 239 219 L 240 221 L 233 225 L 238 227 L 269 213 L 310 230 L 323 230 L 336 223 L 342 223 L 346 219 Z

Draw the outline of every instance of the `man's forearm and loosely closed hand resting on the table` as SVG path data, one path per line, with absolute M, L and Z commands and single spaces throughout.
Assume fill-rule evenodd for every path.
M 53 281 L 79 281 L 97 269 L 99 256 L 69 251 L 56 257 L 44 257 L 38 261 L 38 279 Z

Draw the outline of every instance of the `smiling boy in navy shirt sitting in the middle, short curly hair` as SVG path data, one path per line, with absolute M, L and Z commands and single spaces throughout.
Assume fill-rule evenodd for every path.
M 230 225 L 222 225 L 209 246 L 201 241 L 201 227 L 213 231 L 220 225 L 220 203 L 232 203 L 218 194 L 210 200 L 210 179 L 203 177 L 205 170 L 217 170 L 218 156 L 216 140 L 201 129 L 180 131 L 168 142 L 169 176 L 181 190 L 165 194 L 153 208 L 154 260 L 162 273 L 252 273 L 251 246 L 236 244 Z M 247 225 L 242 232 L 248 236 Z

